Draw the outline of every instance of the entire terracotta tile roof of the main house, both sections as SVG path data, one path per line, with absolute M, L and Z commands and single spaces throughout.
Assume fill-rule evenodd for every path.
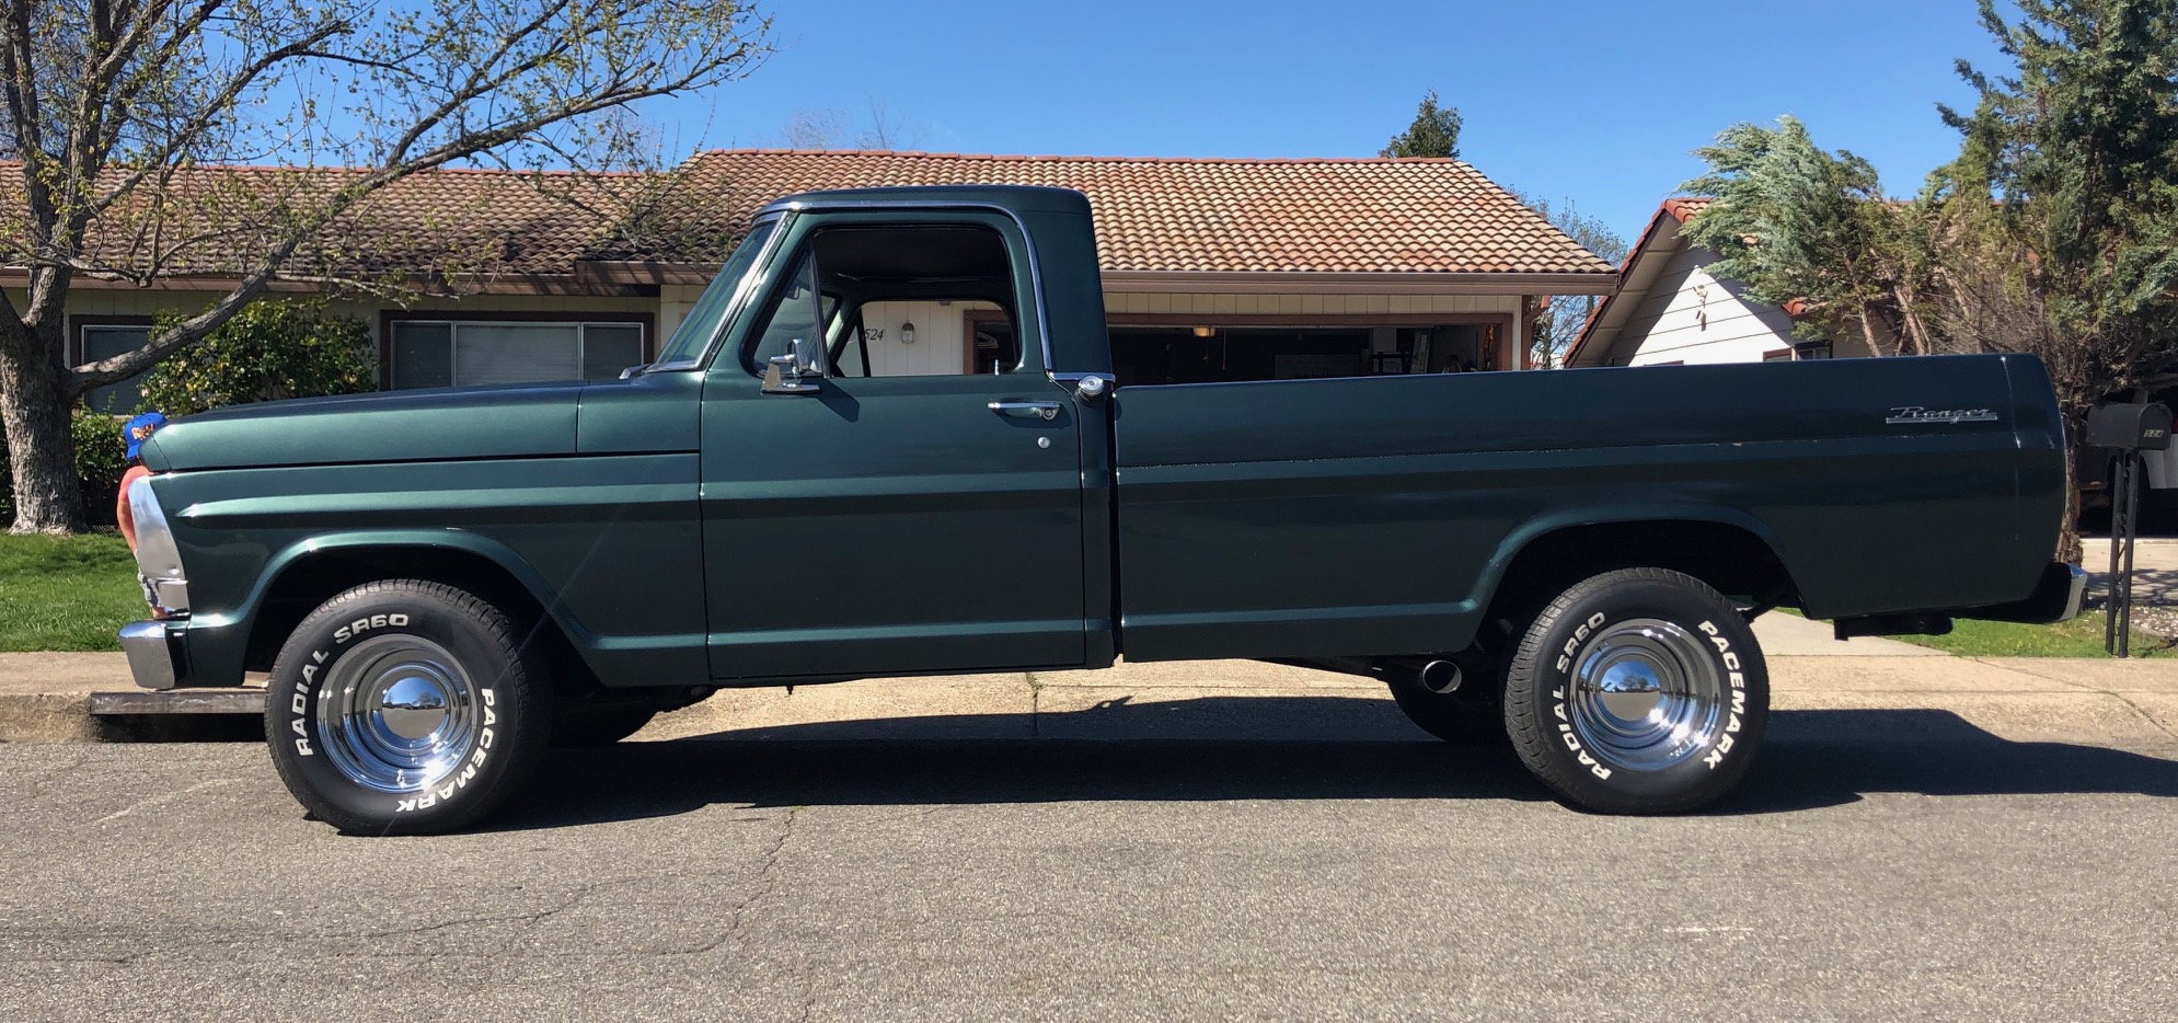
M 0 165 L 0 181 L 11 174 Z M 192 168 L 166 213 L 94 224 L 87 250 L 142 268 L 139 229 L 192 239 L 168 272 L 235 274 L 268 244 L 268 207 L 298 209 L 364 170 Z M 717 266 L 749 213 L 795 192 L 880 185 L 1056 185 L 1089 196 L 1104 270 L 1612 274 L 1529 207 L 1453 159 L 976 157 L 714 150 L 675 174 L 433 170 L 329 224 L 285 276 L 558 274 L 577 261 Z M 20 194 L 17 194 L 20 196 Z M 4 202 L 4 200 L 0 200 Z M 22 263 L 0 209 L 0 263 Z M 15 211 L 20 213 L 20 209 Z M 446 252 L 460 252 L 449 259 Z

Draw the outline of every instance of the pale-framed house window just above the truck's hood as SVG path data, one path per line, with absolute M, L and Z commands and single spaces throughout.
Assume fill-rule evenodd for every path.
M 394 320 L 394 387 L 610 381 L 643 361 L 640 322 Z

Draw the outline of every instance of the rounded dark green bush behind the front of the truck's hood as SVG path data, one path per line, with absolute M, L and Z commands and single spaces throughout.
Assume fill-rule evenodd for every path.
M 181 322 L 166 313 L 152 331 Z M 362 320 L 322 300 L 257 300 L 142 379 L 144 407 L 189 416 L 220 405 L 375 390 L 379 366 Z

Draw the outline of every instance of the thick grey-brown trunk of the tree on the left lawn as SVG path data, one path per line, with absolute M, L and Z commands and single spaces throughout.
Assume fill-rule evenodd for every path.
M 0 427 L 15 481 L 11 533 L 83 531 L 65 372 L 59 324 L 0 329 Z

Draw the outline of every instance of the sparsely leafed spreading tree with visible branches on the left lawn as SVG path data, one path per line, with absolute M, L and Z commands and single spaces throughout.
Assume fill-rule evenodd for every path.
M 15 531 L 83 525 L 68 414 L 233 318 L 368 200 L 455 163 L 627 165 L 627 104 L 769 48 L 736 0 L 65 0 L 0 4 L 0 422 Z M 279 159 L 340 174 L 222 174 Z M 220 215 L 205 222 L 205 211 Z M 120 252 L 120 257 L 111 257 Z M 76 279 L 237 283 L 131 353 L 70 366 Z M 338 281 L 333 281 L 338 283 Z

